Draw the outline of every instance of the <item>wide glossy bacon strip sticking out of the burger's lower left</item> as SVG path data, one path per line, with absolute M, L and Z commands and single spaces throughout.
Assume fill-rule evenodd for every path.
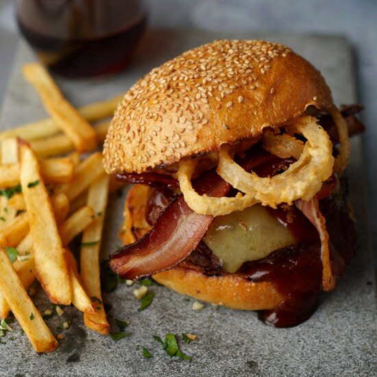
M 230 184 L 210 172 L 197 182 L 196 189 L 222 197 L 230 190 Z M 111 257 L 110 268 L 121 278 L 131 280 L 169 269 L 197 247 L 212 221 L 212 216 L 193 212 L 180 196 L 169 204 L 150 232 Z

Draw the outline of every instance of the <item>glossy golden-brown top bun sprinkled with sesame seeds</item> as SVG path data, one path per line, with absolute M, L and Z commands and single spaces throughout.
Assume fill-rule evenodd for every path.
M 138 80 L 119 104 L 104 144 L 108 173 L 143 173 L 224 143 L 258 136 L 308 106 L 332 105 L 324 77 L 287 46 L 217 40 Z

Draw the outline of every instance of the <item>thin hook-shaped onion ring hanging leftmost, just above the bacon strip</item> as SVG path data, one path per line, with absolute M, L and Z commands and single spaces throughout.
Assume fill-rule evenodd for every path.
M 191 177 L 195 171 L 198 160 L 181 160 L 178 170 L 180 189 L 184 201 L 197 213 L 202 215 L 228 215 L 235 210 L 243 210 L 256 203 L 256 199 L 250 195 L 236 195 L 236 197 L 210 197 L 199 195 L 191 184 Z

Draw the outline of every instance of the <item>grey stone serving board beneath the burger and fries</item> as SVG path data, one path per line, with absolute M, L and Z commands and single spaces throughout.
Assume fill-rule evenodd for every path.
M 237 33 L 211 34 L 198 30 L 149 30 L 139 45 L 130 66 L 121 75 L 95 80 L 58 80 L 66 97 L 75 105 L 88 104 L 117 95 L 129 88 L 149 69 L 173 56 L 216 38 L 263 38 L 283 42 L 302 54 L 321 70 L 332 88 L 336 104 L 357 101 L 354 56 L 342 36 Z M 8 93 L 1 111 L 1 128 L 46 117 L 40 99 L 21 75 L 21 66 L 34 55 L 21 42 L 14 61 Z M 133 287 L 120 286 L 104 295 L 111 305 L 109 318 L 127 319 L 131 335 L 113 341 L 85 328 L 82 314 L 64 309 L 63 318 L 53 317 L 47 324 L 56 326 L 71 319 L 56 352 L 36 354 L 19 326 L 0 344 L 4 376 L 372 376 L 376 364 L 376 299 L 372 254 L 367 239 L 365 176 L 361 139 L 352 140 L 352 159 L 348 167 L 351 201 L 357 219 L 356 258 L 345 270 L 337 289 L 320 297 L 317 312 L 295 328 L 278 329 L 260 322 L 254 312 L 232 311 L 206 304 L 193 311 L 194 300 L 153 286 L 154 301 L 138 313 L 139 303 Z M 119 245 L 123 197 L 110 199 L 104 230 L 104 256 Z M 45 294 L 38 289 L 34 300 L 40 311 L 49 308 Z M 182 344 L 193 356 L 191 362 L 169 358 L 153 335 L 191 332 L 197 339 Z M 14 340 L 8 339 L 13 337 Z M 145 359 L 146 347 L 154 358 Z

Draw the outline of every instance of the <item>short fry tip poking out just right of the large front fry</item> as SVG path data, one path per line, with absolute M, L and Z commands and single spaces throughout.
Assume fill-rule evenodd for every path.
M 66 249 L 65 255 L 71 276 L 72 304 L 83 313 L 95 313 L 95 308 L 82 286 L 75 257 L 68 249 Z

